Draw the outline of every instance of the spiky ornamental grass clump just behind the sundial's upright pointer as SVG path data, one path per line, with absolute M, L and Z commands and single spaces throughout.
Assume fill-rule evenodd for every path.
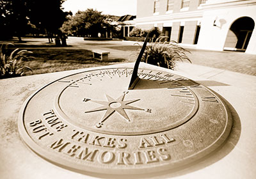
M 160 35 L 156 39 L 156 42 L 152 40 L 147 45 L 141 61 L 172 70 L 175 68 L 176 61 L 188 60 L 191 63 L 185 54 L 185 52 L 189 51 L 180 47 L 177 42 L 166 42 L 165 39 L 166 36 Z

